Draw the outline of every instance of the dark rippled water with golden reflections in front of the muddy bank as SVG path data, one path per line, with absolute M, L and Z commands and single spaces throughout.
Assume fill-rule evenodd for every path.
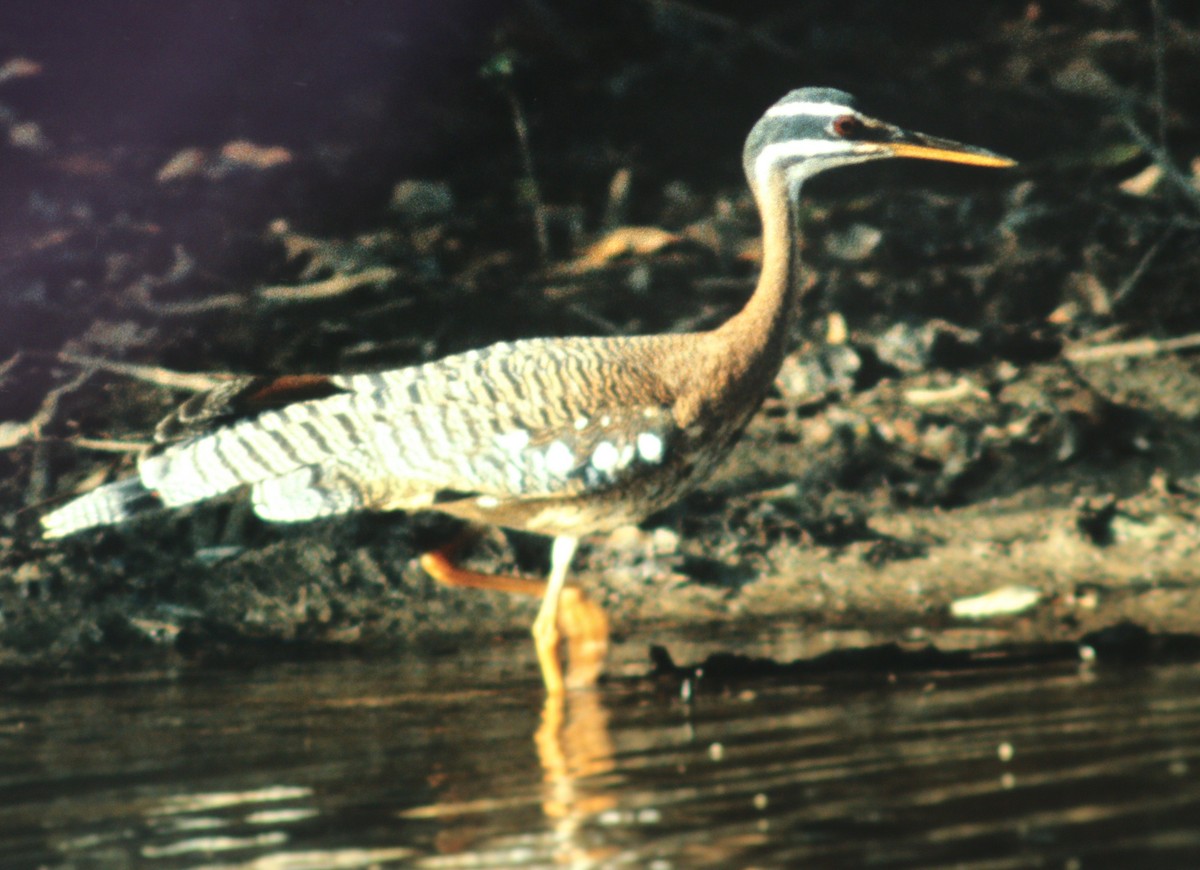
M 1200 866 L 1196 665 L 544 708 L 526 649 L 10 689 L 0 866 Z

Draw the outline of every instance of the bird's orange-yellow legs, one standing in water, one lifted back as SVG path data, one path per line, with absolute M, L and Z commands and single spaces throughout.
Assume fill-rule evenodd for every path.
M 550 583 L 458 568 L 451 556 L 460 544 L 455 541 L 425 553 L 421 568 L 445 586 L 540 596 L 542 602 L 534 620 L 533 636 L 546 691 L 558 695 L 564 686 L 563 666 L 558 658 L 559 632 L 566 638 L 569 655 L 565 684 L 572 688 L 594 684 L 604 670 L 608 650 L 608 617 L 577 586 L 565 586 L 575 539 L 554 540 Z

